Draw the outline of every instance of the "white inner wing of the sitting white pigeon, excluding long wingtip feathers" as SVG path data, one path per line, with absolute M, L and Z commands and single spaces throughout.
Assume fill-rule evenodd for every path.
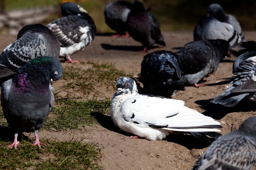
M 167 127 L 160 120 L 179 113 L 184 101 L 150 95 L 135 95 L 127 99 L 120 108 L 122 117 L 137 126 Z

